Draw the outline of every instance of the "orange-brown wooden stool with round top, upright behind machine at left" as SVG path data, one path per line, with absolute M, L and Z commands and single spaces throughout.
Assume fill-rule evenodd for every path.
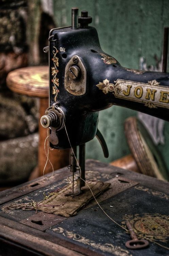
M 36 66 L 16 69 L 11 71 L 7 78 L 7 86 L 14 92 L 30 97 L 38 97 L 40 99 L 39 115 L 45 114 L 45 110 L 49 106 L 49 74 L 48 66 Z M 43 175 L 46 163 L 46 155 L 44 151 L 44 142 L 47 137 L 47 129 L 40 125 L 39 118 L 39 147 L 38 147 L 38 175 Z M 69 150 L 50 150 L 49 159 L 52 162 L 54 170 L 60 169 L 69 163 Z M 47 165 L 45 173 L 52 169 Z

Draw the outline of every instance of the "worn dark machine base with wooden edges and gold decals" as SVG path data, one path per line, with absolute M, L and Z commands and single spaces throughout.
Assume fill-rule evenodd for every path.
M 169 250 L 150 242 L 148 248 L 129 250 L 130 235 L 113 223 L 91 201 L 77 215 L 65 218 L 35 210 L 8 210 L 11 202 L 43 200 L 44 192 L 70 181 L 70 171 L 54 172 L 0 193 L 0 255 L 48 256 L 167 256 Z M 86 178 L 110 181 L 111 188 L 98 197 L 104 211 L 125 226 L 129 220 L 135 232 L 169 247 L 169 183 L 120 169 L 95 160 L 86 161 Z

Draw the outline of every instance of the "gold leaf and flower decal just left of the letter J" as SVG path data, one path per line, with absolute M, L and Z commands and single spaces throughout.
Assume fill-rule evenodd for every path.
M 113 94 L 114 91 L 116 91 L 116 93 L 118 94 L 121 91 L 119 83 L 116 83 L 114 85 L 112 83 L 109 83 L 109 80 L 107 79 L 103 80 L 103 83 L 99 82 L 99 84 L 97 84 L 96 86 L 99 88 L 99 90 L 102 90 L 104 94 L 107 94 L 109 91 L 111 91 Z

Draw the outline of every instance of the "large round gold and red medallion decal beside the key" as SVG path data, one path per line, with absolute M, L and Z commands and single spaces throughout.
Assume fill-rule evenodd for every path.
M 167 215 L 145 213 L 143 216 L 125 215 L 123 219 L 122 226 L 126 228 L 126 221 L 129 221 L 134 232 L 143 239 L 164 243 L 169 241 L 169 216 Z

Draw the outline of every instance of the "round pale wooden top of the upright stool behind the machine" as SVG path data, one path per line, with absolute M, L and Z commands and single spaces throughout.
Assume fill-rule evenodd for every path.
M 14 93 L 48 98 L 49 67 L 35 66 L 16 69 L 7 75 L 6 83 Z

